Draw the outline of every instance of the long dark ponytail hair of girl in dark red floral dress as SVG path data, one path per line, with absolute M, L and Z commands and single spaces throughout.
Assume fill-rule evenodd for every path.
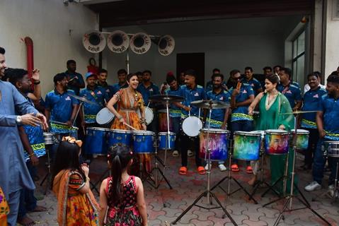
M 121 203 L 122 201 L 122 171 L 132 159 L 132 150 L 127 145 L 117 144 L 108 150 L 108 162 L 110 162 L 110 174 L 112 180 L 108 186 L 108 202 Z

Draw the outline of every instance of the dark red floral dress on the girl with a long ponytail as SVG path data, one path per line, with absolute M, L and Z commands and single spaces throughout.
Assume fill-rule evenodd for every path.
M 135 177 L 130 176 L 123 184 L 122 203 L 112 200 L 110 187 L 112 177 L 108 178 L 106 195 L 108 197 L 108 212 L 105 218 L 106 226 L 139 226 L 142 225 L 142 217 L 137 208 L 137 185 Z

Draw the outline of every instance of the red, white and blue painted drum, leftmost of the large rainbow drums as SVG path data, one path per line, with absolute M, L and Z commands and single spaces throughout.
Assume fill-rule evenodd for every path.
M 228 154 L 229 131 L 224 129 L 209 129 L 209 141 L 207 146 L 207 129 L 200 130 L 200 158 L 207 158 L 207 147 L 211 149 L 211 160 L 226 160 Z

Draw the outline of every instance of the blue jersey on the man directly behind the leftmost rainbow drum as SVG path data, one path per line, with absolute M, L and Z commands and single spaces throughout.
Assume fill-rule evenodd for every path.
M 206 93 L 207 100 L 217 100 L 229 103 L 231 101 L 231 93 L 222 90 L 220 93 L 214 93 L 213 90 Z M 226 109 L 212 109 L 210 126 L 211 128 L 220 129 L 224 123 Z M 209 113 L 207 114 L 206 127 L 209 123 Z

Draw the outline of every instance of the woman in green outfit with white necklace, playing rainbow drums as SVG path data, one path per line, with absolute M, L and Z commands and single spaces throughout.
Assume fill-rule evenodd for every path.
M 292 108 L 287 98 L 276 89 L 279 83 L 277 75 L 267 76 L 265 79 L 265 92 L 259 93 L 248 107 L 248 114 L 253 115 L 253 109 L 258 105 L 260 117 L 255 121 L 255 129 L 265 131 L 267 129 L 282 129 L 290 131 L 294 128 Z M 271 183 L 277 181 L 285 171 L 286 155 L 270 155 Z M 289 158 L 289 162 L 292 158 Z M 255 167 L 257 168 L 257 167 Z M 290 171 L 290 170 L 289 170 Z M 254 184 L 256 175 L 248 182 Z M 278 190 L 282 191 L 282 187 Z

